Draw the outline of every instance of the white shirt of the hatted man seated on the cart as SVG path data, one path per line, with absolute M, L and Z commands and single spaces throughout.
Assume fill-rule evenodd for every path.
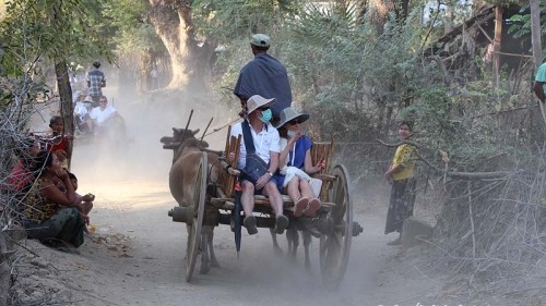
M 264 128 L 260 133 L 256 133 L 254 128 L 250 126 L 250 133 L 252 134 L 252 140 L 254 142 L 256 154 L 263 159 L 266 163 L 270 162 L 271 152 L 281 152 L 278 147 L 278 132 L 271 123 L 268 122 Z M 242 135 L 242 122 L 235 124 L 232 127 L 232 136 Z M 240 140 L 240 151 L 237 168 L 245 169 L 247 164 L 247 148 L 245 147 L 245 136 Z

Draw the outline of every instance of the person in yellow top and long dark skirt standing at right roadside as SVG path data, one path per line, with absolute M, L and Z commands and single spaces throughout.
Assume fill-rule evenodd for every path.
M 407 140 L 412 136 L 412 124 L 402 122 L 399 125 L 399 137 L 401 140 Z M 417 160 L 416 148 L 410 144 L 402 144 L 396 148 L 391 167 L 384 173 L 384 178 L 392 184 L 391 199 L 387 212 L 387 224 L 384 234 L 399 232 L 396 240 L 388 243 L 397 245 L 402 243 L 402 227 L 404 220 L 413 216 L 415 203 L 415 180 L 414 168 Z

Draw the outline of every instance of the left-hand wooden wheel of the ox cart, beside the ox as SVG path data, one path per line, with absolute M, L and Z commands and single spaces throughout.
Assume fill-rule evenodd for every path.
M 190 282 L 193 276 L 193 268 L 199 253 L 201 242 L 201 228 L 203 225 L 204 204 L 206 193 L 206 171 L 209 160 L 203 152 L 199 162 L 198 178 L 195 180 L 195 189 L 193 192 L 193 219 L 188 224 L 188 248 L 186 249 L 186 281 Z

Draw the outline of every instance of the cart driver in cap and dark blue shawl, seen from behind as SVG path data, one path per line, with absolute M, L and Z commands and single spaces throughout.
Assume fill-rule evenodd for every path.
M 276 102 L 271 107 L 271 110 L 273 119 L 276 120 L 280 118 L 281 111 L 292 105 L 292 89 L 286 68 L 268 54 L 269 36 L 252 35 L 250 47 L 254 59 L 241 69 L 234 94 L 241 100 L 244 109 L 246 101 L 253 95 L 274 98 Z

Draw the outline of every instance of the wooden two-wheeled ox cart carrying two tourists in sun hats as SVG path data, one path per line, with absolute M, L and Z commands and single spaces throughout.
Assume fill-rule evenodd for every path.
M 164 137 L 169 138 L 168 140 L 162 138 L 164 148 L 173 149 L 175 156 L 177 151 L 180 152 L 181 150 L 180 144 L 183 143 L 186 138 L 193 137 L 199 131 L 192 132 L 191 130 L 187 130 L 188 125 L 189 121 L 185 130 L 173 128 L 175 131 L 175 137 Z M 179 139 L 173 142 L 173 138 L 177 138 L 177 133 Z M 180 133 L 182 136 L 180 136 Z M 205 133 L 206 130 L 203 136 Z M 230 136 L 229 127 L 225 149 L 223 151 L 212 151 L 202 148 L 200 145 L 198 158 L 194 159 L 194 162 L 198 160 L 199 167 L 194 175 L 194 184 L 192 185 L 192 201 L 187 205 L 174 207 L 168 211 L 168 216 L 173 218 L 173 221 L 185 222 L 188 227 L 188 244 L 186 250 L 186 280 L 188 282 L 192 279 L 198 254 L 200 252 L 206 253 L 206 250 L 202 249 L 203 245 L 206 244 L 201 235 L 203 227 L 217 227 L 218 224 L 230 225 L 232 231 L 234 231 L 236 235 L 236 244 L 237 238 L 239 238 L 240 243 L 244 217 L 240 209 L 240 197 L 237 197 L 237 192 L 240 187 L 238 182 L 238 175 L 240 173 L 236 170 L 240 142 L 241 136 L 238 138 Z M 312 227 L 314 236 L 320 241 L 319 259 L 323 283 L 330 287 L 337 287 L 346 270 L 351 240 L 353 236 L 357 236 L 361 233 L 363 228 L 358 222 L 353 220 L 353 203 L 351 199 L 348 172 L 343 164 L 332 164 L 333 149 L 333 142 L 314 143 L 312 146 L 311 157 L 313 161 L 324 159 L 327 161 L 327 167 L 321 172 L 312 175 L 322 181 L 319 196 L 322 204 L 316 217 L 309 220 L 310 222 L 306 222 L 306 224 Z M 229 154 L 235 155 L 233 161 L 229 161 L 227 158 Z M 211 159 L 211 155 L 215 157 Z M 211 164 L 211 160 L 214 164 Z M 274 228 L 275 218 L 268 198 L 257 195 L 254 196 L 254 216 L 257 218 L 258 228 Z M 288 230 L 293 224 L 297 223 L 296 219 L 308 218 L 294 217 L 294 203 L 284 195 L 283 200 L 284 213 L 289 218 Z M 212 242 L 210 246 L 212 247 Z M 214 257 L 214 255 L 212 255 L 212 257 Z M 203 273 L 203 267 L 201 268 L 201 272 Z M 204 271 L 204 273 L 205 272 L 207 272 L 207 270 Z

